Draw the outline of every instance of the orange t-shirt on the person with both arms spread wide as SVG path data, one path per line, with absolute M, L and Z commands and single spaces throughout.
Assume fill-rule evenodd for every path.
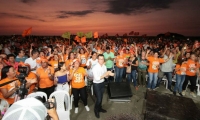
M 157 73 L 160 63 L 165 62 L 165 60 L 162 58 L 154 58 L 154 57 L 148 57 L 147 60 L 149 61 L 148 72 L 151 72 L 151 73 Z

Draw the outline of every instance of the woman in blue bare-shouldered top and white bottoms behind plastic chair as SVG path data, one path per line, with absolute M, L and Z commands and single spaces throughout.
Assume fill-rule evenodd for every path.
M 69 71 L 64 62 L 58 63 L 58 71 L 55 72 L 54 85 L 57 85 L 56 90 L 65 90 L 69 92 Z

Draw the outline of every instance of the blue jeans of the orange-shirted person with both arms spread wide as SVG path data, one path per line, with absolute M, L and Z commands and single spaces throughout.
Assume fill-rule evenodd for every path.
M 157 84 L 157 79 L 158 79 L 158 73 L 149 72 L 149 80 L 148 80 L 147 88 L 154 89 Z

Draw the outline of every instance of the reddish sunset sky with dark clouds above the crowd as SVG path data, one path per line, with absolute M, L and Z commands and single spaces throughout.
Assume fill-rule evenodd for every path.
M 0 35 L 176 32 L 200 36 L 200 0 L 0 0 Z

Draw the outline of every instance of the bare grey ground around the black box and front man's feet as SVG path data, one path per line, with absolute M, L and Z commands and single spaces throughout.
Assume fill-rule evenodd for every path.
M 132 83 L 131 89 L 133 92 L 133 96 L 131 97 L 130 102 L 109 101 L 107 95 L 107 89 L 105 89 L 103 97 L 103 108 L 107 110 L 107 113 L 100 113 L 100 118 L 98 120 L 115 120 L 113 119 L 113 116 L 117 115 L 121 116 L 128 115 L 130 117 L 136 117 L 136 119 L 134 120 L 143 120 L 144 119 L 143 103 L 144 103 L 146 88 L 139 87 L 139 89 L 136 91 Z M 165 86 L 163 84 L 156 91 L 172 94 L 169 90 L 165 89 Z M 200 109 L 200 96 L 193 98 L 192 96 L 190 96 L 188 89 L 185 97 L 192 98 L 197 107 Z M 85 107 L 81 101 L 79 102 L 78 114 L 74 113 L 74 106 L 73 106 L 70 115 L 71 120 L 97 120 L 97 118 L 94 115 L 94 100 L 95 97 L 91 96 L 91 94 L 88 93 L 88 106 L 90 107 L 89 112 L 85 110 Z

